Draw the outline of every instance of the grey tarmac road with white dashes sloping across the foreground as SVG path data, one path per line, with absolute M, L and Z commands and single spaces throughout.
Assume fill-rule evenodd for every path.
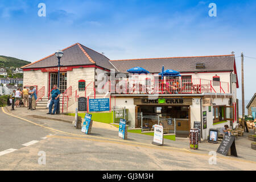
M 117 130 L 101 128 L 82 135 L 70 123 L 16 118 L 3 110 L 0 118 L 0 170 L 215 171 L 256 166 L 255 161 L 219 155 L 216 164 L 209 164 L 211 156 L 204 150 L 192 152 L 168 142 L 154 146 L 147 135 L 129 133 L 130 139 L 122 140 Z

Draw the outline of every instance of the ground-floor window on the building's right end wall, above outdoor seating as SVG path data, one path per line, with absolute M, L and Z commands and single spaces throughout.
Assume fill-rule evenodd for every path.
M 213 123 L 234 120 L 233 106 L 213 106 Z

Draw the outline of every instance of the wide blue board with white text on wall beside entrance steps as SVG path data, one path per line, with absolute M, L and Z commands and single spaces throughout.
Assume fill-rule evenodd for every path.
M 89 111 L 109 111 L 109 98 L 89 99 Z

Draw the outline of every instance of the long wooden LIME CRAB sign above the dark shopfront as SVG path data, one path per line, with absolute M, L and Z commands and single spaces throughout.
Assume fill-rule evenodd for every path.
M 134 105 L 192 105 L 192 98 L 134 98 Z

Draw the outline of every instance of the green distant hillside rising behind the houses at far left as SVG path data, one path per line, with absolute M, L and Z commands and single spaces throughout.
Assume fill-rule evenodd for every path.
M 16 59 L 15 57 L 0 56 L 0 67 L 20 68 L 27 64 L 30 64 L 30 62 L 21 59 Z

